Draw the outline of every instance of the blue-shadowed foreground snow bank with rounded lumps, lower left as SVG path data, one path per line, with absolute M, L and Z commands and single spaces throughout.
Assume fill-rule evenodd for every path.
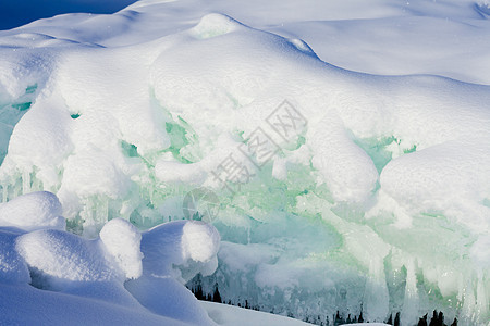
M 37 210 L 33 210 L 33 198 L 38 199 L 35 206 Z M 48 201 L 51 203 L 48 208 L 42 206 L 47 202 L 42 199 L 46 198 L 51 200 Z M 175 280 L 175 277 L 182 277 L 164 273 L 176 265 L 189 268 L 188 261 L 195 261 L 192 268 L 194 274 L 187 277 L 199 272 L 211 274 L 217 266 L 219 246 L 219 235 L 212 226 L 191 222 L 162 225 L 160 229 L 174 231 L 147 231 L 140 246 L 142 234 L 130 222 L 113 218 L 102 227 L 100 238 L 89 240 L 62 229 L 46 229 L 49 225 L 39 223 L 46 211 L 53 206 L 53 202 L 57 203 L 56 209 L 61 210 L 58 198 L 50 192 L 24 195 L 3 204 L 11 204 L 9 208 L 16 209 L 5 211 L 17 213 L 17 224 L 23 225 L 24 229 L 34 230 L 0 226 L 2 323 L 25 324 L 36 321 L 41 324 L 82 325 L 97 318 L 97 324 L 103 325 L 118 319 L 145 325 L 212 324 L 194 296 Z M 62 218 L 64 226 L 64 218 L 58 215 L 56 217 Z M 39 226 L 40 229 L 36 229 Z M 158 236 L 148 236 L 151 233 Z M 149 238 L 157 243 L 148 240 Z M 169 238 L 174 241 L 169 241 Z M 148 241 L 154 247 L 158 246 L 159 250 L 151 250 Z M 142 265 L 144 255 L 140 250 L 154 261 L 145 261 Z M 173 255 L 169 256 L 167 252 Z M 164 271 L 157 266 L 164 266 Z M 130 291 L 124 287 L 126 279 L 138 279 L 130 283 Z M 155 296 L 148 301 L 138 296 L 138 291 L 143 291 L 145 296 Z M 132 292 L 136 296 L 132 296 Z M 151 302 L 161 304 L 161 299 L 173 303 L 164 304 L 164 309 L 152 309 Z M 44 309 L 45 305 L 49 308 Z

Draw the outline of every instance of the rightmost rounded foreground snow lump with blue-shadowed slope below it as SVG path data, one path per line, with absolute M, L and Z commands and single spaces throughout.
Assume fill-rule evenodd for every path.
M 211 325 L 183 284 L 197 273 L 215 272 L 219 239 L 213 226 L 200 222 L 169 222 L 147 230 L 142 239 L 143 276 L 127 281 L 126 289 L 154 313 Z

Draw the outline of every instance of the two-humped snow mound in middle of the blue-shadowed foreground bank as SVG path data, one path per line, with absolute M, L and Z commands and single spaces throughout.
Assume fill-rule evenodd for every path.
M 16 250 L 42 288 L 61 289 L 73 281 L 122 281 L 142 275 L 142 235 L 127 221 L 115 218 L 87 240 L 62 230 L 36 230 L 16 239 Z M 106 254 L 106 252 L 108 254 Z

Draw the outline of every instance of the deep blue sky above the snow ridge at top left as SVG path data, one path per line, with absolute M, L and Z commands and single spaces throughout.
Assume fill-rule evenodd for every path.
M 0 0 L 0 29 L 69 12 L 112 13 L 136 0 Z

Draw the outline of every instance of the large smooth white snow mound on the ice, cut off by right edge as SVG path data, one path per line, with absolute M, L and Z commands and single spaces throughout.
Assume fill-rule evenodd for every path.
M 449 215 L 485 234 L 490 228 L 490 208 L 482 204 L 490 198 L 490 138 L 480 135 L 391 161 L 381 173 L 381 189 L 412 214 Z

